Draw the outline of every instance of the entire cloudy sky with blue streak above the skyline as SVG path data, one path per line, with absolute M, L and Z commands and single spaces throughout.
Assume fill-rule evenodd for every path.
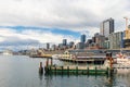
M 100 23 L 113 17 L 125 30 L 130 0 L 0 0 L 0 50 L 44 47 L 62 39 L 91 38 Z

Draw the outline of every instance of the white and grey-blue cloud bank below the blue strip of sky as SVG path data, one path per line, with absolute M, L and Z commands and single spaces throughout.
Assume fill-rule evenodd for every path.
M 0 45 L 1 46 L 27 46 L 27 45 L 43 45 L 46 42 L 60 44 L 63 38 L 68 41 L 76 39 L 72 35 L 61 35 L 51 33 L 51 30 L 43 29 L 0 29 Z

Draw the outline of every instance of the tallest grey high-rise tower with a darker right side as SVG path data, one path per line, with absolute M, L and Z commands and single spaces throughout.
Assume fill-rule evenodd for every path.
M 114 20 L 110 17 L 101 23 L 100 34 L 108 37 L 109 34 L 114 33 Z

